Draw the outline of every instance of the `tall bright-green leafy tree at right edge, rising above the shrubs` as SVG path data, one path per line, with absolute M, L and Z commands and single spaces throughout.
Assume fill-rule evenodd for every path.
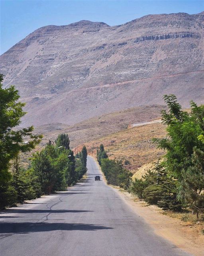
M 204 133 L 204 106 L 198 107 L 191 102 L 191 112 L 188 114 L 181 110 L 175 95 L 165 95 L 164 98 L 169 106 L 169 112 L 162 112 L 162 120 L 167 124 L 167 138 L 155 139 L 155 142 L 159 148 L 167 150 L 165 168 L 181 181 L 182 170 L 192 166 L 193 148 L 204 149 L 204 144 L 198 140 L 198 136 Z

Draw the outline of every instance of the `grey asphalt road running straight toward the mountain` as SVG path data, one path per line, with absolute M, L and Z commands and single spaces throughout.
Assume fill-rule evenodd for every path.
M 67 192 L 1 212 L 1 256 L 187 256 L 154 234 L 88 157 L 88 178 Z M 101 174 L 100 174 L 101 176 Z

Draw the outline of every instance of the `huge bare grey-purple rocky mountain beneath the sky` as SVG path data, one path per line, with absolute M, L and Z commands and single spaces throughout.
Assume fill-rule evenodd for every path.
M 135 106 L 204 103 L 204 12 L 122 24 L 82 20 L 35 30 L 0 57 L 4 86 L 27 102 L 23 124 L 73 125 Z

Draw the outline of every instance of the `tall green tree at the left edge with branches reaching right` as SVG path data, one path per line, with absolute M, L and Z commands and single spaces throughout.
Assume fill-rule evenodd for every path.
M 16 129 L 26 114 L 23 111 L 25 103 L 19 101 L 18 90 L 14 86 L 3 89 L 2 81 L 3 75 L 0 74 L 0 207 L 5 208 L 11 206 L 17 198 L 17 192 L 13 193 L 12 174 L 9 172 L 11 160 L 14 160 L 15 171 L 18 174 L 20 152 L 31 151 L 41 141 L 42 136 L 33 135 L 33 126 Z M 25 137 L 29 140 L 26 144 Z

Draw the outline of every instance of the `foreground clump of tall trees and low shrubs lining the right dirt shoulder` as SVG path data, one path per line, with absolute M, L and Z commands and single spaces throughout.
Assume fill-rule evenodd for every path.
M 204 212 L 204 144 L 199 140 L 204 134 L 204 106 L 191 102 L 188 113 L 181 110 L 175 95 L 164 99 L 169 112 L 163 110 L 162 120 L 168 137 L 154 141 L 167 153 L 155 165 L 155 174 L 149 172 L 134 180 L 131 190 L 149 204 L 165 210 L 188 208 L 198 218 L 199 212 Z

